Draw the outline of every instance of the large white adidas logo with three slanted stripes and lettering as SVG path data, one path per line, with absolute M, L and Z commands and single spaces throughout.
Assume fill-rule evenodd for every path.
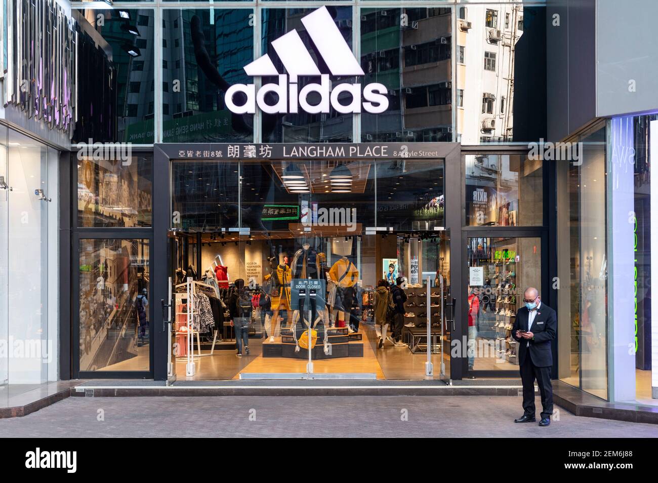
M 301 18 L 301 23 L 333 76 L 365 75 L 326 7 L 320 7 L 304 16 Z M 224 102 L 232 113 L 255 114 L 256 105 L 268 114 L 298 113 L 299 109 L 309 114 L 329 113 L 330 106 L 342 114 L 361 113 L 362 107 L 363 111 L 372 114 L 383 113 L 388 109 L 388 97 L 386 97 L 388 89 L 379 82 L 367 84 L 363 91 L 361 84 L 349 84 L 349 82 L 342 82 L 332 88 L 329 74 L 320 73 L 296 30 L 291 30 L 288 34 L 273 40 L 272 47 L 284 64 L 287 74 L 277 72 L 272 59 L 267 54 L 247 64 L 244 70 L 248 76 L 278 76 L 278 84 L 265 84 L 258 89 L 258 92 L 255 84 L 234 84 L 226 89 Z M 299 90 L 298 76 L 319 76 L 320 84 L 307 84 Z M 311 105 L 307 100 L 311 92 L 320 95 L 320 102 L 316 105 Z M 351 95 L 351 102 L 347 105 L 338 101 L 338 97 L 343 92 Z M 235 102 L 238 93 L 241 93 L 238 95 L 240 105 Z M 270 105 L 266 102 L 268 93 L 276 94 L 278 97 L 276 103 Z M 272 95 L 267 97 L 274 99 Z M 362 97 L 365 99 L 363 106 Z

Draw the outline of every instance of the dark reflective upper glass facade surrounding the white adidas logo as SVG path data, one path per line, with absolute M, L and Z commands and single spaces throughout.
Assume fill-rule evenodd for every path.
M 255 82 L 260 88 L 278 82 L 274 75 L 249 76 L 244 67 L 253 61 L 267 56 L 278 74 L 290 74 L 286 62 L 299 59 L 310 59 L 320 74 L 336 70 L 301 21 L 317 6 L 245 1 L 235 8 L 218 3 L 208 9 L 199 3 L 176 9 L 146 2 L 139 5 L 143 9 L 95 10 L 80 3 L 74 10 L 78 61 L 98 68 L 97 78 L 79 88 L 74 140 L 504 145 L 545 137 L 545 103 L 538 101 L 545 97 L 545 7 L 413 4 L 327 7 L 363 70 L 363 76 L 332 75 L 332 89 L 355 81 L 382 84 L 388 101 L 384 112 L 341 113 L 331 104 L 322 113 L 299 109 L 253 115 L 232 113 L 224 99 L 236 84 Z M 156 18 L 162 28 L 156 28 Z M 291 55 L 288 61 L 272 42 L 293 31 L 303 56 Z M 317 82 L 308 75 L 298 80 L 298 93 Z M 336 97 L 351 105 L 348 91 Z M 307 96 L 313 106 L 320 98 L 313 90 Z M 243 100 L 236 97 L 240 104 Z M 264 101 L 276 105 L 278 93 L 270 91 Z

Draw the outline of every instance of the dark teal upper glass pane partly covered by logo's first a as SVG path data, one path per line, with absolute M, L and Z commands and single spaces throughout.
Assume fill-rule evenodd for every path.
M 163 11 L 163 140 L 240 141 L 253 127 L 236 125 L 224 90 L 248 82 L 253 59 L 249 11 Z

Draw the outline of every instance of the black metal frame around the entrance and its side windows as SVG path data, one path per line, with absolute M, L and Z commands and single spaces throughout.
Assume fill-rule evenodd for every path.
M 238 143 L 230 143 L 236 145 Z M 357 144 L 357 143 L 355 143 Z M 270 143 L 271 146 L 277 146 Z M 330 143 L 322 143 L 320 145 L 328 146 Z M 349 144 L 343 144 L 347 146 Z M 411 155 L 407 159 L 443 159 L 445 163 L 445 229 L 449 230 L 450 234 L 450 273 L 451 273 L 451 295 L 455 299 L 455 306 L 453 307 L 453 315 L 455 318 L 455 330 L 451 333 L 451 338 L 455 340 L 467 335 L 467 304 L 463 294 L 466 292 L 467 266 L 466 260 L 466 239 L 468 236 L 532 236 L 540 238 L 542 242 L 542 290 L 543 299 L 546 303 L 555 307 L 556 294 L 555 290 L 551 288 L 549 273 L 555 273 L 553 270 L 555 265 L 555 243 L 549 236 L 549 228 L 554 225 L 555 216 L 549 216 L 549 207 L 555 206 L 555 169 L 549 169 L 547 163 L 544 163 L 544 223 L 542 226 L 535 227 L 515 227 L 511 230 L 509 227 L 480 227 L 480 226 L 465 226 L 466 221 L 466 207 L 465 207 L 465 164 L 463 163 L 463 155 L 476 154 L 476 153 L 500 153 L 500 154 L 523 154 L 527 153 L 528 149 L 525 146 L 461 146 L 459 143 L 361 143 L 361 145 L 388 145 L 390 149 L 395 147 L 407 146 L 411 151 Z M 227 144 L 224 143 L 167 143 L 155 144 L 153 151 L 150 149 L 137 150 L 148 151 L 153 153 L 153 178 L 151 184 L 151 197 L 152 197 L 152 224 L 151 228 L 76 228 L 76 193 L 72 193 L 72 206 L 66 207 L 68 216 L 70 216 L 71 237 L 69 253 L 64 253 L 63 260 L 68 259 L 72 262 L 66 264 L 71 267 L 70 281 L 71 281 L 71 297 L 70 297 L 70 312 L 72 317 L 72 326 L 70 327 L 70 345 L 72 356 L 71 372 L 73 378 L 153 378 L 155 380 L 166 380 L 167 378 L 167 355 L 170 348 L 167 343 L 167 330 L 164 322 L 164 311 L 161 310 L 161 303 L 168 303 L 168 277 L 170 276 L 170 245 L 168 243 L 168 236 L 171 227 L 171 195 L 170 195 L 170 173 L 172 159 L 182 159 L 178 156 L 179 151 L 188 151 L 191 147 L 198 150 L 215 151 L 217 149 L 225 149 Z M 280 145 L 278 145 L 280 146 Z M 299 146 L 299 145 L 297 145 Z M 415 151 L 434 151 L 430 156 L 417 156 L 413 155 Z M 71 155 L 74 155 L 72 153 Z M 195 159 L 195 158 L 191 158 Z M 203 158 L 196 158 L 203 159 Z M 226 159 L 226 158 L 224 158 Z M 272 157 L 272 159 L 282 159 L 289 161 L 290 159 L 281 157 Z M 374 158 L 344 158 L 344 159 L 360 159 L 363 161 L 376 162 Z M 388 161 L 392 157 L 386 158 Z M 236 161 L 236 159 L 231 159 Z M 70 186 L 77 186 L 77 170 L 73 166 L 74 160 L 70 162 Z M 68 173 L 67 173 L 68 174 Z M 66 176 L 68 177 L 68 176 Z M 455 182 L 457 181 L 458 182 Z M 551 188 L 552 186 L 552 188 Z M 82 371 L 80 372 L 80 330 L 79 330 L 79 272 L 74 269 L 78 266 L 76 260 L 79 260 L 79 246 L 80 240 L 84 238 L 130 238 L 130 239 L 147 239 L 149 240 L 149 274 L 151 277 L 149 294 L 151 296 L 151 303 L 149 304 L 149 316 L 151 320 L 150 330 L 150 343 L 151 352 L 150 359 L 151 365 L 149 371 Z M 551 253 L 553 255 L 551 256 Z M 162 302 L 161 302 L 162 301 Z M 68 304 L 66 304 L 68 305 Z M 66 309 L 66 307 L 63 307 Z M 553 347 L 555 352 L 555 347 Z M 452 352 L 452 351 L 451 351 Z M 554 374 L 557 374 L 557 357 L 554 357 Z M 460 380 L 467 375 L 476 377 L 518 377 L 514 370 L 510 371 L 472 371 L 470 374 L 467 372 L 467 358 L 466 357 L 453 357 L 451 355 L 450 378 L 453 380 Z M 65 361 L 62 363 L 65 366 Z M 506 374 L 509 373 L 509 374 Z

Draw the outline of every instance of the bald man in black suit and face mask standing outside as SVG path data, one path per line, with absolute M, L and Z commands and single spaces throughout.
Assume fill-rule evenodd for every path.
M 519 369 L 523 384 L 523 416 L 514 422 L 535 421 L 534 381 L 537 380 L 542 396 L 542 419 L 540 426 L 551 424 L 553 414 L 553 386 L 551 367 L 553 353 L 551 341 L 555 339 L 557 317 L 555 311 L 542 303 L 534 287 L 526 288 L 523 294 L 524 307 L 517 311 L 512 336 L 519 342 Z

